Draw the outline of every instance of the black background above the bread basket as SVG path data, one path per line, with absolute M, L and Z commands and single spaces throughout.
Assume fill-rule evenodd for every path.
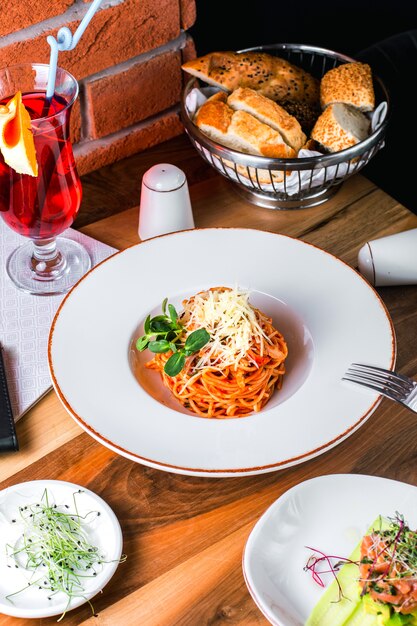
M 196 0 L 190 29 L 197 54 L 274 43 L 305 43 L 353 55 L 417 28 L 410 0 Z M 417 68 L 416 68 L 417 70 Z

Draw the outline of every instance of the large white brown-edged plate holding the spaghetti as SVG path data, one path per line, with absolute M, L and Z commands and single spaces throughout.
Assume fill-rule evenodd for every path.
M 181 308 L 217 285 L 250 289 L 289 346 L 282 390 L 241 419 L 186 411 L 132 350 L 165 297 Z M 381 397 L 341 378 L 352 362 L 393 367 L 395 335 L 377 293 L 336 257 L 284 235 L 210 228 L 149 239 L 92 269 L 63 300 L 48 355 L 59 398 L 104 445 L 159 469 L 237 476 L 301 463 L 359 428 Z

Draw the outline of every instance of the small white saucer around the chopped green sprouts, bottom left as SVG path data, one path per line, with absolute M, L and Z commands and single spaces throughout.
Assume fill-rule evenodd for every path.
M 82 493 L 76 494 L 78 513 L 86 515 L 90 511 L 99 511 L 98 516 L 91 524 L 85 524 L 84 529 L 92 545 L 97 546 L 105 556 L 106 561 L 94 578 L 85 579 L 84 597 L 74 597 L 68 605 L 68 597 L 63 593 L 51 596 L 47 590 L 41 590 L 34 585 L 28 585 L 33 572 L 23 567 L 9 567 L 13 562 L 6 556 L 6 544 L 15 545 L 22 534 L 22 525 L 13 523 L 19 519 L 19 507 L 35 504 L 42 501 L 47 489 L 49 503 L 68 505 L 68 512 L 75 512 L 73 494 L 79 489 Z M 75 609 L 95 596 L 109 582 L 119 565 L 122 554 L 122 531 L 117 517 L 109 505 L 97 494 L 85 487 L 61 480 L 34 480 L 7 487 L 0 491 L 0 613 L 13 617 L 41 618 L 52 615 L 61 615 L 65 610 Z M 6 596 L 19 589 L 11 600 Z

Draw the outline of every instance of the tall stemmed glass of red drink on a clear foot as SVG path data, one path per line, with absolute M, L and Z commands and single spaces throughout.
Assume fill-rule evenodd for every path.
M 14 284 L 32 294 L 65 293 L 91 267 L 86 249 L 67 237 L 81 203 L 69 123 L 78 83 L 58 68 L 55 93 L 47 100 L 49 66 L 14 65 L 0 70 L 0 105 L 17 91 L 31 117 L 38 176 L 18 174 L 0 154 L 0 215 L 16 233 L 29 241 L 7 260 Z

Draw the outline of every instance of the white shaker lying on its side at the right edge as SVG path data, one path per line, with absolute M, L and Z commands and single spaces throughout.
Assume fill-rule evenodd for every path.
M 367 241 L 358 265 L 375 287 L 417 285 L 417 228 Z

